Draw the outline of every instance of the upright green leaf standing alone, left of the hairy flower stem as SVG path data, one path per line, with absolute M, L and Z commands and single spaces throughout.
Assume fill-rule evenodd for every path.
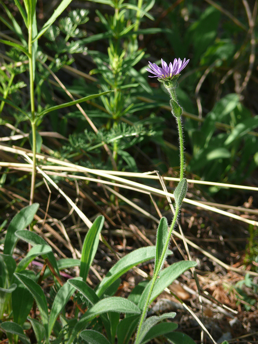
M 104 216 L 98 216 L 92 227 L 88 230 L 88 233 L 85 236 L 83 248 L 82 248 L 82 257 L 80 262 L 80 276 L 86 281 L 86 278 L 89 273 L 89 268 L 92 265 L 93 258 L 95 257 L 98 243 L 99 243 L 99 234 L 104 224 Z

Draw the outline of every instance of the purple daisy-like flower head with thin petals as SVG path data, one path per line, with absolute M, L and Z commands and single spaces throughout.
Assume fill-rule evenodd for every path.
M 189 60 L 185 61 L 185 58 L 184 61 L 180 60 L 180 58 L 178 60 L 175 58 L 174 63 L 172 64 L 172 62 L 170 62 L 168 66 L 166 62 L 161 59 L 162 68 L 149 61 L 149 68 L 146 69 L 148 72 L 154 74 L 154 76 L 149 75 L 150 78 L 171 79 L 174 75 L 178 75 L 188 62 Z

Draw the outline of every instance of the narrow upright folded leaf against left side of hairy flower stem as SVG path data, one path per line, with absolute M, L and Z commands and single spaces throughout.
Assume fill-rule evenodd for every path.
M 155 266 L 154 266 L 153 275 L 157 271 L 162 252 L 164 250 L 166 250 L 166 251 L 168 250 L 168 247 L 165 247 L 165 243 L 166 243 L 167 238 L 168 238 L 168 221 L 166 220 L 165 217 L 162 217 L 160 219 L 160 223 L 159 223 L 158 230 L 157 230 L 156 256 L 155 256 Z M 164 255 L 160 269 L 162 269 L 165 259 L 166 259 L 166 254 Z

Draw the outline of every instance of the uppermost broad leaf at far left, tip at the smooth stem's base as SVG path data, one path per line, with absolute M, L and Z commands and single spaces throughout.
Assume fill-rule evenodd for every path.
M 21 209 L 21 211 L 13 217 L 9 227 L 7 228 L 6 238 L 4 240 L 4 254 L 12 254 L 14 246 L 17 242 L 17 237 L 14 235 L 14 233 L 17 230 L 24 229 L 31 224 L 38 208 L 39 203 L 33 203 L 32 205 Z

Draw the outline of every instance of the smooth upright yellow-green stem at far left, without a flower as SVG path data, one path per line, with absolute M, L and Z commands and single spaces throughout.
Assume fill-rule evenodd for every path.
M 36 178 L 36 123 L 35 123 L 35 100 L 34 100 L 34 80 L 33 80 L 33 61 L 32 61 L 32 21 L 30 21 L 28 39 L 28 57 L 29 57 L 29 73 L 30 73 L 30 101 L 31 101 L 31 129 L 32 129 L 32 174 L 31 174 L 31 192 L 30 205 L 34 200 L 35 178 Z

